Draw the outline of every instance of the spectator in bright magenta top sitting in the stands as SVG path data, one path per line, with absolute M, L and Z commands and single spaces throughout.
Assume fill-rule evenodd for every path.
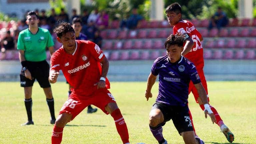
M 101 11 L 100 15 L 96 19 L 96 27 L 100 30 L 108 27 L 108 14 L 106 11 Z

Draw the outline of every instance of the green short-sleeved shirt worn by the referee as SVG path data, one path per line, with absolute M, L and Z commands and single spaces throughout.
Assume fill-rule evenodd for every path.
M 53 45 L 51 34 L 47 29 L 39 27 L 38 32 L 32 34 L 27 28 L 19 33 L 17 49 L 24 50 L 25 60 L 38 62 L 46 60 L 45 49 Z

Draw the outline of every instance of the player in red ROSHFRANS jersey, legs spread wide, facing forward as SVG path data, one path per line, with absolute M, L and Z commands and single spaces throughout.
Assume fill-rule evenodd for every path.
M 67 81 L 73 86 L 68 100 L 62 106 L 52 131 L 52 144 L 60 144 L 63 128 L 88 105 L 93 104 L 114 118 L 122 142 L 129 144 L 129 134 L 116 100 L 108 91 L 106 79 L 109 62 L 99 46 L 91 41 L 75 39 L 71 24 L 60 23 L 54 32 L 62 43 L 51 57 L 49 81 L 57 81 L 62 70 Z M 101 66 L 102 65 L 102 66 Z

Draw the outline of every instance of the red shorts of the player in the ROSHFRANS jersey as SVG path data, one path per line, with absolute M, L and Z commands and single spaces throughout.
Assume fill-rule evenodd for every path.
M 72 92 L 68 100 L 62 106 L 59 115 L 62 113 L 70 113 L 72 114 L 71 120 L 73 120 L 88 105 L 95 105 L 104 113 L 109 114 L 105 110 L 108 103 L 116 103 L 116 100 L 106 88 L 98 89 L 90 96 L 80 96 Z

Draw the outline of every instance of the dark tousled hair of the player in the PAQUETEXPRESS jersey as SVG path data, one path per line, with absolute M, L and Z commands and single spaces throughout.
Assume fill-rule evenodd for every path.
M 179 32 L 175 35 L 171 34 L 164 42 L 164 46 L 165 46 L 165 49 L 167 49 L 170 45 L 176 45 L 176 44 L 179 47 L 182 47 L 184 42 L 185 42 L 185 35 L 182 32 Z

